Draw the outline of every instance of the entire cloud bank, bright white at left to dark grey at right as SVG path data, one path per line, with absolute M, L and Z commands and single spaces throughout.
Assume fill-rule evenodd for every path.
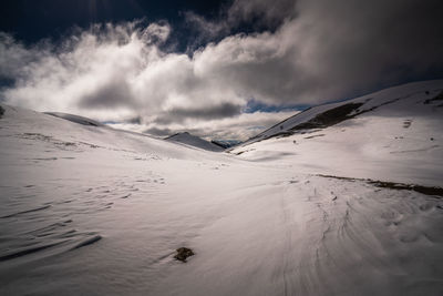
M 253 99 L 318 104 L 441 74 L 441 8 L 433 0 L 236 0 L 224 19 L 186 14 L 202 35 L 218 37 L 186 53 L 165 49 L 174 30 L 167 22 L 94 24 L 62 42 L 33 45 L 1 33 L 0 81 L 13 83 L 0 98 L 130 125 L 137 119 L 156 134 L 192 130 L 245 139 L 238 123 L 254 130 L 264 124 L 253 118 L 282 119 L 244 114 Z M 230 34 L 247 21 L 272 30 Z

